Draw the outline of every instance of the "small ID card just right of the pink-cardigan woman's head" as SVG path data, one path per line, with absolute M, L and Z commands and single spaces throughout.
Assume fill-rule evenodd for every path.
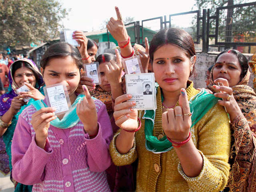
M 85 76 L 88 76 L 93 79 L 93 83 L 96 85 L 101 84 L 100 79 L 100 71 L 99 71 L 99 62 L 84 64 L 84 69 L 82 71 L 82 74 Z

